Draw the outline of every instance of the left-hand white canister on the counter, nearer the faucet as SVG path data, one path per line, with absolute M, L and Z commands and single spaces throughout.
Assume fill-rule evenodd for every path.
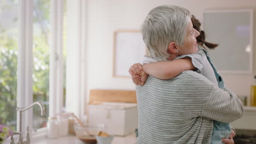
M 56 117 L 48 117 L 47 122 L 47 137 L 57 139 L 59 136 L 59 124 Z

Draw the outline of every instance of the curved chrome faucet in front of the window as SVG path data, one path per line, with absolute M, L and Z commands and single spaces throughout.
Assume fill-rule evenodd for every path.
M 27 136 L 26 136 L 27 139 L 26 139 L 26 141 L 22 140 L 22 112 L 30 109 L 34 105 L 39 105 L 39 107 L 41 109 L 41 116 L 44 116 L 45 115 L 44 105 L 39 103 L 38 101 L 34 102 L 33 104 L 28 105 L 26 107 L 16 107 L 16 111 L 19 111 L 19 116 L 20 116 L 20 119 L 19 119 L 19 126 L 20 127 L 18 128 L 18 133 L 14 133 L 14 134 L 20 135 L 19 142 L 17 144 L 29 144 L 30 143 L 30 135 L 29 135 L 28 131 L 31 130 L 31 129 L 29 129 L 28 127 L 27 127 Z M 11 136 L 11 144 L 14 144 L 13 136 Z

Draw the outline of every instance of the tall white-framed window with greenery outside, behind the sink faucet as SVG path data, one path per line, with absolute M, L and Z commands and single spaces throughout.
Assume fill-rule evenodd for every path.
M 45 127 L 50 113 L 62 112 L 65 104 L 63 66 L 66 64 L 63 62 L 66 58 L 63 53 L 66 51 L 62 50 L 63 43 L 66 43 L 63 36 L 66 34 L 63 32 L 65 2 L 0 1 L 0 123 L 9 125 L 14 131 L 20 129 L 16 121 L 17 106 L 28 106 L 34 101 L 40 101 L 45 106 L 44 117 L 40 116 L 38 106 L 33 107 L 33 115 L 30 111 L 22 113 L 23 133 L 27 125 L 36 129 Z M 51 25 L 50 19 L 57 22 Z M 55 42 L 51 41 L 58 42 L 53 44 Z M 51 58 L 55 56 L 59 58 Z M 61 77 L 51 77 L 53 73 Z M 54 89 L 55 93 L 51 93 L 50 89 Z M 59 100 L 61 103 L 58 103 Z

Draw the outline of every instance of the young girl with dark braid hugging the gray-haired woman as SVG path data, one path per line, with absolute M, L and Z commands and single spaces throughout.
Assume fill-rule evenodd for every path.
M 220 77 L 216 68 L 211 63 L 211 59 L 208 56 L 205 47 L 207 46 L 209 49 L 214 49 L 218 44 L 212 44 L 205 41 L 205 32 L 201 31 L 201 23 L 194 15 L 191 17 L 191 21 L 193 27 L 200 33 L 199 37 L 196 38 L 199 51 L 190 55 L 178 56 L 175 59 L 169 57 L 165 62 L 157 62 L 153 58 L 144 57 L 143 66 L 137 63 L 132 65 L 129 70 L 129 73 L 132 75 L 132 80 L 136 85 L 143 86 L 144 82 L 147 80 L 148 74 L 155 76 L 158 79 L 167 80 L 172 79 L 184 70 L 195 70 L 197 73 L 204 75 L 207 79 L 212 81 L 216 87 L 224 89 L 222 77 Z M 214 121 L 211 143 L 232 142 L 232 137 L 235 136 L 235 131 L 232 129 L 230 134 L 230 130 L 229 123 Z M 222 138 L 226 139 L 222 140 Z M 228 140 L 228 138 L 231 140 Z

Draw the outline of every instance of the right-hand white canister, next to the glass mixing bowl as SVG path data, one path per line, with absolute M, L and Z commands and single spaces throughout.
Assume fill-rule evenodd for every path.
M 57 116 L 59 123 L 59 136 L 68 135 L 68 115 L 62 113 Z

